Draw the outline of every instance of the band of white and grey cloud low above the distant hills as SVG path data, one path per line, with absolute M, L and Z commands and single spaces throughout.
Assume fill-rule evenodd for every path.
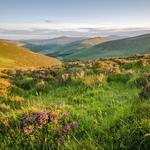
M 58 36 L 135 36 L 150 33 L 149 26 L 104 25 L 100 23 L 66 23 L 55 20 L 43 22 L 0 23 L 0 38 L 29 39 Z

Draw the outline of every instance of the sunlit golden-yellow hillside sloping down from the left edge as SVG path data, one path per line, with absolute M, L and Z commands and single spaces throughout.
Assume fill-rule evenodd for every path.
M 33 53 L 8 41 L 0 40 L 1 67 L 42 67 L 60 65 L 55 58 Z

